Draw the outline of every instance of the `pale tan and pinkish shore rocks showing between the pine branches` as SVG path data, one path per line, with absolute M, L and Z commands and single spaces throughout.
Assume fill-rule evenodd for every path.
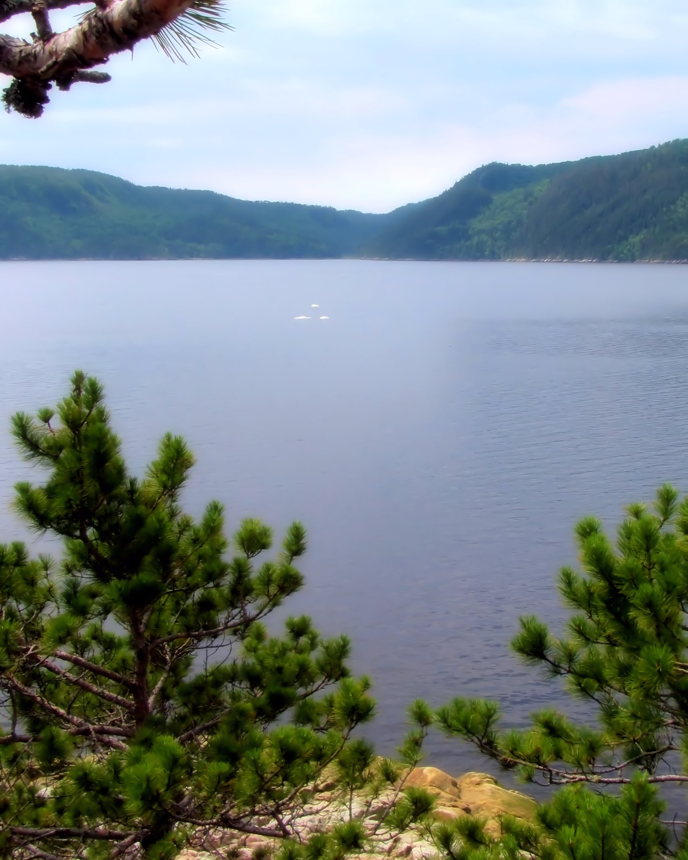
M 504 789 L 494 779 L 485 773 L 466 773 L 463 777 L 451 777 L 436 767 L 417 767 L 411 772 L 404 783 L 404 788 L 423 788 L 435 798 L 435 820 L 451 820 L 465 815 L 479 815 L 488 821 L 488 832 L 496 833 L 499 828 L 501 815 L 513 815 L 525 821 L 531 821 L 537 804 L 531 797 L 519 791 Z M 328 802 L 329 797 L 324 793 L 320 799 Z M 370 807 L 362 799 L 354 800 L 354 817 L 371 818 L 384 805 L 386 798 L 380 797 L 378 804 Z M 328 807 L 327 813 L 314 810 L 313 814 L 304 817 L 299 825 L 301 835 L 307 837 L 310 833 L 324 830 L 336 820 L 345 820 L 348 809 Z M 279 845 L 260 836 L 239 836 L 238 834 L 199 834 L 194 840 L 194 847 L 184 851 L 180 860 L 267 860 L 279 848 Z M 424 860 L 436 853 L 434 846 L 427 841 L 426 834 L 421 828 L 411 827 L 408 831 L 394 839 L 381 841 L 376 845 L 375 857 L 408 857 L 409 860 Z

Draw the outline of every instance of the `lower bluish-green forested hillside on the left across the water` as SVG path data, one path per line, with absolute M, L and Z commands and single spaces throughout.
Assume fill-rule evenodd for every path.
M 89 170 L 0 165 L 0 259 L 341 257 L 404 214 L 140 187 Z

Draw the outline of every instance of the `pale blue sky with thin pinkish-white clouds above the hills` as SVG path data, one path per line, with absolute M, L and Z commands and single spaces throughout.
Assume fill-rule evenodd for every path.
M 227 19 L 186 65 L 146 42 L 41 120 L 0 114 L 0 163 L 388 212 L 491 161 L 688 137 L 685 0 L 231 0 Z

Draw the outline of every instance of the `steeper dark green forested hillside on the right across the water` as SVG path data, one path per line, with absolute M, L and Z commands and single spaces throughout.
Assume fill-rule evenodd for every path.
M 488 164 L 365 246 L 420 260 L 684 260 L 688 140 L 620 156 Z

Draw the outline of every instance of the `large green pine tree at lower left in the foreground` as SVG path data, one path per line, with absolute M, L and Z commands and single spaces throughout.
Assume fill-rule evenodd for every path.
M 308 617 L 282 636 L 264 624 L 302 587 L 302 525 L 262 561 L 273 537 L 260 520 L 228 541 L 218 502 L 198 521 L 183 513 L 187 445 L 164 436 L 130 476 L 82 372 L 56 411 L 15 415 L 13 431 L 46 470 L 17 484 L 15 508 L 62 554 L 0 546 L 0 856 L 163 860 L 229 831 L 337 860 L 427 813 L 399 767 L 351 737 L 374 702 L 347 637 L 322 639 Z M 413 717 L 407 769 L 430 722 L 421 703 Z M 396 789 L 372 831 L 351 815 L 304 842 L 299 819 L 326 779 L 343 796 Z

